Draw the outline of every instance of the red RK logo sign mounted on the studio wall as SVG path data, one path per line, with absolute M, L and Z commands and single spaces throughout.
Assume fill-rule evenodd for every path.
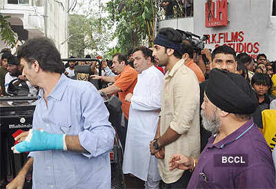
M 217 0 L 215 2 L 207 0 L 205 3 L 205 26 L 206 28 L 227 26 L 227 0 Z M 215 15 L 216 12 L 216 15 Z

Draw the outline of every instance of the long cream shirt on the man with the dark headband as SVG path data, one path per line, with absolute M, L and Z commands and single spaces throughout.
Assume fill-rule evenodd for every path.
M 159 174 L 165 183 L 177 181 L 184 170 L 169 170 L 168 161 L 175 154 L 198 158 L 200 150 L 199 132 L 199 83 L 195 73 L 177 61 L 172 70 L 166 72 L 161 99 L 160 133 L 168 127 L 181 135 L 165 146 L 165 158 L 159 159 Z

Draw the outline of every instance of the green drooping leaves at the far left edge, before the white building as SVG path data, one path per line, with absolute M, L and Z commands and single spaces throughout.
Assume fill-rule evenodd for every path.
M 7 20 L 10 16 L 4 17 L 0 13 L 0 34 L 1 40 L 3 40 L 8 46 L 13 48 L 16 44 L 16 34 L 10 28 L 10 22 Z

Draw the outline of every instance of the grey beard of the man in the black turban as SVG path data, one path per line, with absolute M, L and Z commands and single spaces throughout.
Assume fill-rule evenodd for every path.
M 216 112 L 217 110 L 213 111 L 212 117 L 207 117 L 204 110 L 201 110 L 200 112 L 202 117 L 202 126 L 213 134 L 218 134 L 220 128 L 220 120 L 219 117 L 217 117 Z

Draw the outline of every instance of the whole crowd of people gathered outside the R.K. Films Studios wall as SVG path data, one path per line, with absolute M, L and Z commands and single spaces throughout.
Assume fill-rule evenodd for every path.
M 30 159 L 8 188 L 19 186 L 32 164 L 37 188 L 110 188 L 115 130 L 100 94 L 121 101 L 115 128 L 123 172 L 145 188 L 275 188 L 276 151 L 260 130 L 262 111 L 276 109 L 276 63 L 229 46 L 198 54 L 172 28 L 161 28 L 154 44 L 103 60 L 101 75 L 97 62 L 69 61 L 65 68 L 48 39 L 27 41 L 17 61 L 3 52 L 3 88 L 7 74 L 40 88 L 33 128 L 12 148 L 32 151 Z M 107 85 L 97 91 L 75 81 L 77 64 Z

